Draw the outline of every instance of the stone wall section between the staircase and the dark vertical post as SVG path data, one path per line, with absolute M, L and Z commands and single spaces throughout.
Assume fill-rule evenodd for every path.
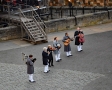
M 45 22 L 47 29 L 46 32 L 57 32 L 60 30 L 72 29 L 75 27 L 75 18 L 68 17 L 68 18 L 61 18 L 55 20 L 49 20 Z

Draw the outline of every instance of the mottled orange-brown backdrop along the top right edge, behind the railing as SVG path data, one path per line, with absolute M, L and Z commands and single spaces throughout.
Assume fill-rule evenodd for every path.
M 49 0 L 49 6 L 112 6 L 112 0 Z

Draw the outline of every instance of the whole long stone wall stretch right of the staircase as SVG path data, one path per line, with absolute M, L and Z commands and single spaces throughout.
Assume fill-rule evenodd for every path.
M 77 26 L 86 27 L 91 25 L 103 24 L 112 22 L 112 10 L 96 12 L 75 17 L 61 18 L 51 21 L 46 21 L 46 32 L 56 32 L 66 29 L 73 29 Z

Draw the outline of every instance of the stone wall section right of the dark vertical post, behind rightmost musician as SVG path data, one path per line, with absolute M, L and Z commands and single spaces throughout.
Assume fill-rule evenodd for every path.
M 95 14 L 88 14 L 84 16 L 77 16 L 78 26 L 90 26 L 108 22 L 108 13 L 101 12 Z

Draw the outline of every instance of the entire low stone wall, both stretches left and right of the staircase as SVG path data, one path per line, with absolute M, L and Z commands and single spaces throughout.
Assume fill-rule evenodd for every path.
M 55 20 L 45 21 L 47 26 L 46 32 L 57 32 L 61 30 L 74 29 L 77 26 L 86 27 L 112 22 L 112 10 L 97 12 L 75 17 L 67 17 Z M 21 29 L 17 26 L 0 28 L 0 41 L 21 38 Z

